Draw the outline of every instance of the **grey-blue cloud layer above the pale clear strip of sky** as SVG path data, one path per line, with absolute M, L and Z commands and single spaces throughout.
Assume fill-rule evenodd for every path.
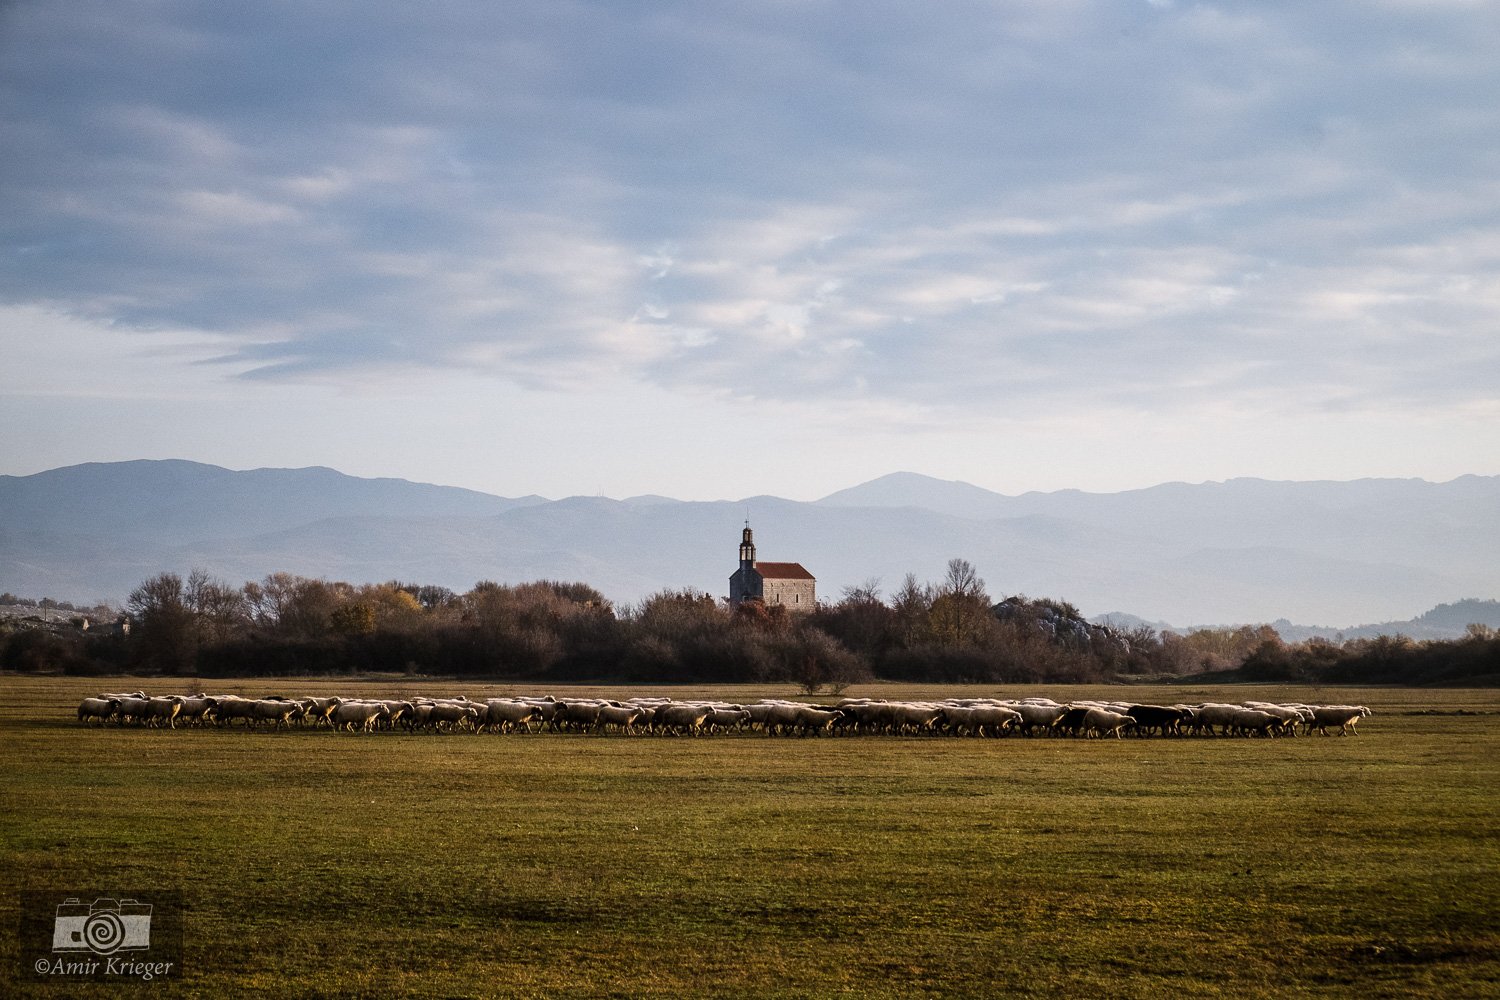
M 198 330 L 230 376 L 934 420 L 1492 394 L 1490 4 L 0 18 L 0 300 Z

